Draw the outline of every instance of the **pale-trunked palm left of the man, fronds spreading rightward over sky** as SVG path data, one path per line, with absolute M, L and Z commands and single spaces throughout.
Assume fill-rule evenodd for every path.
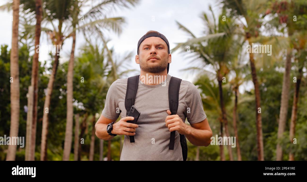
M 73 45 L 71 51 L 70 62 L 68 66 L 68 75 L 67 75 L 67 123 L 66 123 L 66 132 L 65 132 L 65 143 L 64 143 L 64 152 L 63 152 L 63 160 L 69 160 L 69 154 L 72 146 L 72 125 L 73 125 L 73 106 L 72 106 L 72 98 L 73 98 L 73 85 L 72 85 L 72 78 L 73 78 L 73 59 L 74 59 L 74 50 L 75 50 L 75 41 L 76 41 L 76 29 L 83 32 L 86 36 L 90 34 L 93 36 L 93 32 L 99 34 L 99 36 L 103 39 L 105 43 L 105 38 L 102 36 L 102 29 L 109 29 L 111 28 L 114 32 L 120 33 L 121 32 L 121 23 L 124 22 L 124 18 L 122 17 L 112 17 L 106 18 L 105 9 L 108 6 L 118 6 L 118 7 L 128 7 L 128 4 L 134 6 L 138 0 L 108 0 L 103 1 L 96 5 L 95 7 L 91 8 L 87 13 L 80 16 L 80 8 L 86 5 L 87 1 L 74 1 L 73 9 L 71 11 L 72 15 L 72 36 L 73 36 Z M 77 26 L 77 28 L 76 28 Z M 90 33 L 89 33 L 90 32 Z M 110 63 L 114 63 L 112 59 L 109 60 Z M 114 67 L 115 69 L 115 67 Z M 113 72 L 116 75 L 116 71 Z M 117 78 L 116 78 L 117 79 Z

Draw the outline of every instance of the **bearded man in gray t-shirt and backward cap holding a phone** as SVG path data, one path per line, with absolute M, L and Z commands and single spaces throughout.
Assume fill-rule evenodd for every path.
M 212 131 L 195 85 L 182 80 L 177 115 L 171 115 L 169 111 L 168 85 L 171 76 L 168 70 L 172 57 L 166 37 L 156 31 L 142 36 L 135 62 L 141 68 L 134 103 L 141 113 L 137 123 L 127 123 L 133 120 L 133 117 L 126 117 L 127 78 L 117 79 L 107 92 L 105 107 L 95 125 L 97 137 L 111 140 L 114 135 L 125 135 L 121 161 L 182 161 L 179 134 L 185 135 L 193 145 L 208 146 Z M 153 77 L 161 80 L 157 83 Z M 122 119 L 113 123 L 119 115 Z M 186 118 L 191 126 L 185 124 Z M 110 134 L 107 133 L 109 123 L 112 123 L 112 127 L 110 124 L 108 128 Z M 171 131 L 175 131 L 174 150 L 169 150 Z M 129 136 L 134 136 L 135 142 L 131 143 Z

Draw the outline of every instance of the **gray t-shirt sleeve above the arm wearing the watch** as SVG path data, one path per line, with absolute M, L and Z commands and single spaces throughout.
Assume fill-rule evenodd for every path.
M 117 119 L 119 117 L 119 105 L 116 82 L 113 82 L 107 92 L 106 102 L 102 111 L 102 115 L 108 119 Z

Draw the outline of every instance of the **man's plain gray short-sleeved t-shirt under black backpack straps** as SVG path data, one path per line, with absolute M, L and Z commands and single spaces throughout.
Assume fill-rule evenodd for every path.
M 141 112 L 137 121 L 134 141 L 124 137 L 121 161 L 182 161 L 180 136 L 176 131 L 174 150 L 169 150 L 170 131 L 165 126 L 169 116 L 168 86 L 171 76 L 167 74 L 166 84 L 145 85 L 139 79 L 134 105 Z M 102 115 L 108 119 L 126 117 L 125 96 L 128 78 L 117 79 L 110 86 Z M 118 109 L 119 108 L 119 109 Z M 117 112 L 116 112 L 117 111 Z M 120 113 L 119 113 L 120 112 Z M 191 124 L 206 119 L 200 93 L 191 82 L 182 80 L 179 89 L 177 115 Z

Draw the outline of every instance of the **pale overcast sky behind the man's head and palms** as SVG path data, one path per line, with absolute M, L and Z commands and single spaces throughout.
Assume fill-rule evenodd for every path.
M 0 6 L 6 4 L 7 0 L 0 0 Z M 180 30 L 176 21 L 180 22 L 188 28 L 196 37 L 204 36 L 204 24 L 200 15 L 202 12 L 209 13 L 209 5 L 212 6 L 215 16 L 218 16 L 220 9 L 216 1 L 210 0 L 141 0 L 136 6 L 130 6 L 130 9 L 116 9 L 111 14 L 112 17 L 124 17 L 126 23 L 122 26 L 122 33 L 118 36 L 115 33 L 107 32 L 105 35 L 111 41 L 107 44 L 108 47 L 114 47 L 115 54 L 126 55 L 132 51 L 133 56 L 130 63 L 130 69 L 140 70 L 140 67 L 135 63 L 135 55 L 137 54 L 138 40 L 149 30 L 155 30 L 162 33 L 169 41 L 170 49 L 176 46 L 176 43 L 185 42 L 189 36 L 183 30 Z M 89 9 L 90 7 L 88 7 Z M 86 9 L 84 10 L 84 12 Z M 110 17 L 111 17 L 110 16 Z M 11 47 L 12 36 L 12 11 L 0 12 L 1 29 L 0 29 L 0 45 L 7 44 Z M 76 53 L 78 49 L 85 44 L 83 36 L 77 35 L 76 38 Z M 62 47 L 60 63 L 69 60 L 71 51 L 72 38 L 65 40 Z M 41 46 L 47 46 L 46 36 L 41 36 Z M 169 74 L 174 77 L 193 82 L 195 74 L 191 71 L 181 71 L 189 67 L 190 55 L 176 51 L 172 54 L 172 63 L 170 63 Z M 39 53 L 39 61 L 50 60 L 47 49 Z M 50 63 L 49 61 L 48 63 Z M 138 73 L 132 73 L 128 76 L 133 76 Z

